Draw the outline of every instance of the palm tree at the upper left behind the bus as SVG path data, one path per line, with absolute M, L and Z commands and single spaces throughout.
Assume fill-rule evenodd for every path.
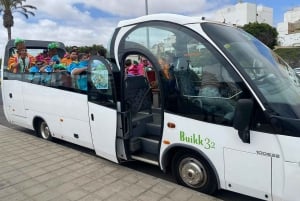
M 14 26 L 13 12 L 21 13 L 28 19 L 29 15 L 34 16 L 31 10 L 35 6 L 23 5 L 26 0 L 0 0 L 0 14 L 3 14 L 3 26 L 7 29 L 8 40 L 11 40 L 11 28 Z

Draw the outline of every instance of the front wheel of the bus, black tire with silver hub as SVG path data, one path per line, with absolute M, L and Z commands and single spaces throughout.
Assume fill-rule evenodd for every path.
M 210 195 L 218 189 L 212 168 L 206 160 L 194 153 L 177 153 L 172 160 L 172 173 L 177 183 L 191 189 Z

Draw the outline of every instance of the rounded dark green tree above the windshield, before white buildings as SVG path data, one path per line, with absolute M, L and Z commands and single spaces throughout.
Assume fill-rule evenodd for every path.
M 252 34 L 269 48 L 274 49 L 277 45 L 277 30 L 266 23 L 249 23 L 242 27 L 246 32 Z

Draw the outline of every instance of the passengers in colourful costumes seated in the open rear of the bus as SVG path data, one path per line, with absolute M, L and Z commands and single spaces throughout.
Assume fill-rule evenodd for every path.
M 71 75 L 78 75 L 87 70 L 89 54 L 79 53 L 76 46 L 72 47 L 70 53 L 66 52 L 63 58 L 58 55 L 59 44 L 52 42 L 48 49 L 36 57 L 27 53 L 25 41 L 15 40 L 16 54 L 8 61 L 8 70 L 13 73 L 23 72 L 59 72 L 67 71 Z

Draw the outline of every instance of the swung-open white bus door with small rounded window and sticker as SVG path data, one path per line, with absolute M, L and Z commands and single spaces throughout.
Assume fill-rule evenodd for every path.
M 95 152 L 101 157 L 118 162 L 115 85 L 111 66 L 105 58 L 91 58 L 87 83 L 90 128 Z

